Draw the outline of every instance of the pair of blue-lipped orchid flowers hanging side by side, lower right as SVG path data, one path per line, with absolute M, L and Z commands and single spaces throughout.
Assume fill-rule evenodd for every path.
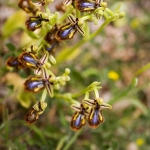
M 71 108 L 76 111 L 72 116 L 70 124 L 71 129 L 74 131 L 81 129 L 81 127 L 85 125 L 86 121 L 91 128 L 97 128 L 100 123 L 104 122 L 102 110 L 112 108 L 111 105 L 104 103 L 103 99 L 99 97 L 99 87 L 97 85 L 95 87 L 92 85 L 92 88 L 95 93 L 94 99 L 89 99 L 89 94 L 87 95 L 89 92 L 86 90 L 86 95 L 82 100 L 82 103 L 71 105 Z

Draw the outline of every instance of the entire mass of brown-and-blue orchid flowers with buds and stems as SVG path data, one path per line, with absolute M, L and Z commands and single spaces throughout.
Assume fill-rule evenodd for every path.
M 27 113 L 25 120 L 31 124 L 38 120 L 39 116 L 44 112 L 47 104 L 44 102 L 47 94 L 50 97 L 55 96 L 54 89 L 58 90 L 60 86 L 64 86 L 70 80 L 68 68 L 61 76 L 56 76 L 51 71 L 51 66 L 56 64 L 56 60 L 52 53 L 57 46 L 66 40 L 73 39 L 78 32 L 82 36 L 82 40 L 77 44 L 79 47 L 84 42 L 92 39 L 112 21 L 123 17 L 124 12 L 120 12 L 117 7 L 114 12 L 107 8 L 107 3 L 103 0 L 64 0 L 64 14 L 60 16 L 58 12 L 51 13 L 48 5 L 53 0 L 20 0 L 18 6 L 31 16 L 26 20 L 26 32 L 36 37 L 37 41 L 29 48 L 25 48 L 17 57 L 10 57 L 7 60 L 7 66 L 17 69 L 30 68 L 34 71 L 34 76 L 29 77 L 24 87 L 26 91 L 37 93 L 43 90 L 41 100 L 37 102 Z M 41 11 L 44 8 L 45 12 Z M 90 34 L 88 28 L 89 21 L 94 24 L 99 19 L 104 18 L 104 24 L 99 29 Z M 66 21 L 68 20 L 68 21 Z M 37 32 L 36 32 L 37 31 Z M 75 46 L 75 48 L 77 47 Z M 73 49 L 75 49 L 73 48 Z M 40 57 L 39 57 L 40 56 Z M 92 128 L 96 128 L 100 123 L 104 122 L 102 110 L 111 108 L 110 105 L 103 102 L 98 96 L 99 83 L 94 82 L 83 92 L 79 92 L 78 96 L 69 97 L 70 101 L 85 94 L 85 99 L 81 104 L 73 104 L 72 108 L 76 110 L 71 120 L 71 128 L 78 130 L 85 125 L 86 121 Z M 89 99 L 89 92 L 95 92 L 95 98 Z

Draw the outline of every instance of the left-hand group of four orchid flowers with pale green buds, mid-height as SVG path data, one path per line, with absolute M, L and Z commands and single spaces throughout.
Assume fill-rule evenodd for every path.
M 36 103 L 32 109 L 26 115 L 26 122 L 31 124 L 35 122 L 39 115 L 43 113 L 47 104 L 44 102 L 46 94 L 53 97 L 54 89 L 58 90 L 60 86 L 64 86 L 67 81 L 70 80 L 69 73 L 70 69 L 66 68 L 65 72 L 61 76 L 55 76 L 50 68 L 56 64 L 55 58 L 48 52 L 45 52 L 41 58 L 38 58 L 35 53 L 36 47 L 31 46 L 22 52 L 18 57 L 10 57 L 7 60 L 7 66 L 13 68 L 31 68 L 34 70 L 34 76 L 28 78 L 24 83 L 26 91 L 37 93 L 42 89 L 46 89 L 44 98 L 42 96 L 41 101 Z

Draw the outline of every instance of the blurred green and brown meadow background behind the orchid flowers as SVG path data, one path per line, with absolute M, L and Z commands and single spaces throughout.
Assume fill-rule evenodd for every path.
M 107 2 L 110 9 L 121 3 L 126 16 L 108 25 L 99 36 L 69 56 L 65 50 L 80 40 L 79 35 L 56 49 L 58 64 L 53 71 L 61 74 L 64 68 L 71 69 L 71 81 L 59 92 L 76 93 L 91 82 L 100 81 L 100 96 L 113 106 L 112 110 L 104 111 L 105 123 L 97 129 L 85 126 L 73 132 L 70 103 L 57 94 L 54 98 L 47 97 L 48 107 L 35 124 L 25 123 L 25 114 L 41 93 L 25 93 L 22 83 L 31 71 L 10 71 L 5 61 L 12 55 L 17 56 L 33 41 L 23 32 L 28 16 L 16 1 L 1 1 L 0 150 L 150 148 L 150 1 Z M 7 27 L 10 18 L 14 23 Z M 97 28 L 93 23 L 90 25 L 91 31 Z

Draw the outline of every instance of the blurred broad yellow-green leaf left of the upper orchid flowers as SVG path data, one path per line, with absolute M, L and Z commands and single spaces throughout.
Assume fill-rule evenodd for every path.
M 23 12 L 22 10 L 19 10 L 12 16 L 10 16 L 2 27 L 3 37 L 7 38 L 12 33 L 14 33 L 18 28 L 22 28 L 22 25 L 25 24 L 25 20 L 26 20 L 26 13 Z

